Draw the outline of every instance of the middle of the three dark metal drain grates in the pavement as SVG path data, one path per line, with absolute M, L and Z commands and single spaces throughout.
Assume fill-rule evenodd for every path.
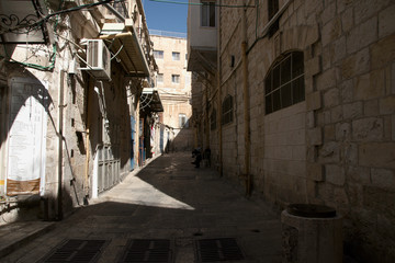
M 168 239 L 132 239 L 120 263 L 172 262 L 172 245 Z

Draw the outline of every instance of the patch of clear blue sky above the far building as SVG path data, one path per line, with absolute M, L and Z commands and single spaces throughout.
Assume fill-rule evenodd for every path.
M 143 5 L 149 30 L 187 33 L 188 4 L 143 0 Z

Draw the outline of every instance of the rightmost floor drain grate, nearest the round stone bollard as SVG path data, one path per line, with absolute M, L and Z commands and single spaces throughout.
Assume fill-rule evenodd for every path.
M 240 261 L 245 256 L 234 238 L 196 240 L 199 262 Z

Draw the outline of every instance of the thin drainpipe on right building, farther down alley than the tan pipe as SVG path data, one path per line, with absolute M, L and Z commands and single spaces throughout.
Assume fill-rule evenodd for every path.
M 222 0 L 219 0 L 219 7 L 218 7 L 218 31 L 217 31 L 217 85 L 218 85 L 218 137 L 219 137 L 219 175 L 223 176 L 223 134 L 222 134 L 222 83 L 221 83 L 221 76 L 222 76 L 222 67 L 221 67 L 221 5 Z

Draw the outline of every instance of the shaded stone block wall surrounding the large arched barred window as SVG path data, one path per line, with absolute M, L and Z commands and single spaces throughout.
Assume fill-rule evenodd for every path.
M 395 259 L 394 10 L 390 0 L 294 0 L 269 37 L 267 1 L 247 9 L 253 187 L 280 206 L 335 207 L 346 218 L 347 252 L 366 262 Z M 221 12 L 221 94 L 237 98 L 223 127 L 223 164 L 235 181 L 245 165 L 241 14 Z M 290 50 L 304 53 L 305 101 L 266 114 L 266 75 Z

